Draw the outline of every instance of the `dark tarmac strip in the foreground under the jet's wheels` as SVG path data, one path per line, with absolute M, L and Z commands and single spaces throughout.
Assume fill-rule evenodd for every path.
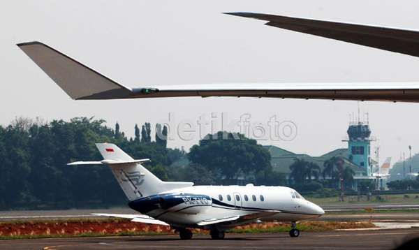
M 42 240 L 0 241 L 0 249 L 394 249 L 405 240 L 419 237 L 419 228 L 399 230 L 228 234 L 225 240 L 210 240 L 209 235 L 194 235 L 179 240 L 177 235 L 137 237 L 93 237 Z

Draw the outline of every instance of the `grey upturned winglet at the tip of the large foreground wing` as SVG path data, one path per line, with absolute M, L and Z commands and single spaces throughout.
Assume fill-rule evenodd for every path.
M 19 43 L 17 46 L 73 99 L 126 98 L 133 93 L 41 42 Z

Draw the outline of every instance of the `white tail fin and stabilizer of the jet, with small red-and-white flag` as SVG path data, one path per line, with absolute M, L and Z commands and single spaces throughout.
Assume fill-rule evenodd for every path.
M 77 161 L 68 165 L 108 165 L 128 200 L 193 186 L 192 182 L 163 182 L 141 165 L 148 159 L 134 160 L 117 145 L 97 143 L 103 161 Z

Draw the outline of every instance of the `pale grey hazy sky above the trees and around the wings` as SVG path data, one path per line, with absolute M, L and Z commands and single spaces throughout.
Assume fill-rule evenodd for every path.
M 116 2 L 116 3 L 115 3 Z M 292 121 L 292 141 L 263 141 L 293 152 L 346 147 L 356 101 L 274 98 L 158 98 L 73 101 L 16 43 L 42 41 L 129 87 L 215 82 L 391 82 L 419 80 L 419 59 L 223 15 L 249 11 L 419 30 L 418 1 L 1 1 L 0 124 L 15 117 L 98 117 L 133 135 L 146 121 L 196 120 L 211 112 Z M 419 84 L 419 83 L 418 83 Z M 419 103 L 360 103 L 369 112 L 380 160 L 419 152 Z M 189 148 L 195 140 L 174 140 Z M 409 154 L 409 153 L 408 153 Z

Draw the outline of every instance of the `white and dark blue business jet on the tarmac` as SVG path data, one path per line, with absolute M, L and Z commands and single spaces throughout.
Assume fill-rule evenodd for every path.
M 260 221 L 292 221 L 291 237 L 300 231 L 296 221 L 317 219 L 325 214 L 285 186 L 193 186 L 193 182 L 163 182 L 122 149 L 110 143 L 96 144 L 102 161 L 77 161 L 68 165 L 106 165 L 112 170 L 128 206 L 140 214 L 95 214 L 131 219 L 135 222 L 170 226 L 182 240 L 189 240 L 189 228 L 210 230 L 221 240 L 228 228 Z

